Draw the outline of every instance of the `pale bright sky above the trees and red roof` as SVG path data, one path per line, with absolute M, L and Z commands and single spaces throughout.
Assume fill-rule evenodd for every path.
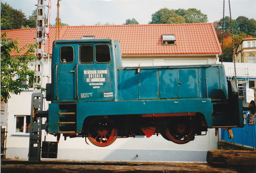
M 1 0 L 14 9 L 22 10 L 28 17 L 37 8 L 37 0 Z M 45 1 L 48 5 L 48 0 Z M 55 23 L 57 0 L 51 0 L 50 23 Z M 256 19 L 256 0 L 230 0 L 232 19 L 238 16 Z M 225 16 L 229 16 L 228 0 L 225 1 Z M 122 25 L 126 19 L 135 18 L 139 24 L 148 24 L 151 15 L 161 8 L 201 10 L 208 22 L 222 18 L 223 0 L 60 0 L 61 22 L 70 26 L 95 25 L 106 22 Z M 47 15 L 48 8 L 45 8 Z

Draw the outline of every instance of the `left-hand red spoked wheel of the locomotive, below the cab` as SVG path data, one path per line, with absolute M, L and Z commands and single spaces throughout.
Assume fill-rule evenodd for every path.
M 89 141 L 99 147 L 106 147 L 116 141 L 117 131 L 107 119 L 94 119 L 87 127 Z

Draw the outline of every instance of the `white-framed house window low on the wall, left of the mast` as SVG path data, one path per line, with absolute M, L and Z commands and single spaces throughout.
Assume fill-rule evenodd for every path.
M 14 135 L 28 134 L 30 115 L 14 115 Z

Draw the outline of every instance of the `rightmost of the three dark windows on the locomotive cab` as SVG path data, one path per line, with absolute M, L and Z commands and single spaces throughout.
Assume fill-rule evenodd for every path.
M 96 45 L 95 46 L 95 61 L 97 63 L 110 62 L 110 47 L 109 47 L 109 45 Z

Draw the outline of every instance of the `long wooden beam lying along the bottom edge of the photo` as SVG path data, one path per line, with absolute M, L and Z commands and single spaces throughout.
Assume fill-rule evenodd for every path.
M 230 168 L 218 168 L 207 163 L 128 162 L 122 165 L 83 164 L 5 164 L 2 173 L 237 173 Z

